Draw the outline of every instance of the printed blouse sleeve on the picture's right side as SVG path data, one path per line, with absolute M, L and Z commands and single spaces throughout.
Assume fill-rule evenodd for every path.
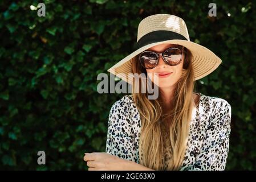
M 196 162 L 193 166 L 181 170 L 222 171 L 225 169 L 229 152 L 231 106 L 227 101 L 222 100 L 216 108 L 218 109 L 214 110 L 210 117 Z

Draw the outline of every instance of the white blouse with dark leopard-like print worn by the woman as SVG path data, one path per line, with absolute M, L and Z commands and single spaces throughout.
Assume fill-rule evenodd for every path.
M 200 99 L 192 113 L 180 170 L 224 170 L 229 152 L 231 106 L 222 98 L 197 94 Z M 123 96 L 109 112 L 105 152 L 140 163 L 140 129 L 140 114 L 132 95 Z M 169 158 L 167 154 L 165 166 Z

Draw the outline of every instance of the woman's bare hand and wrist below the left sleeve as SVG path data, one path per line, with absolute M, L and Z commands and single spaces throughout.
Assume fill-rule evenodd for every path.
M 105 152 L 84 153 L 84 161 L 87 162 L 88 171 L 123 171 L 129 160 L 121 159 Z

